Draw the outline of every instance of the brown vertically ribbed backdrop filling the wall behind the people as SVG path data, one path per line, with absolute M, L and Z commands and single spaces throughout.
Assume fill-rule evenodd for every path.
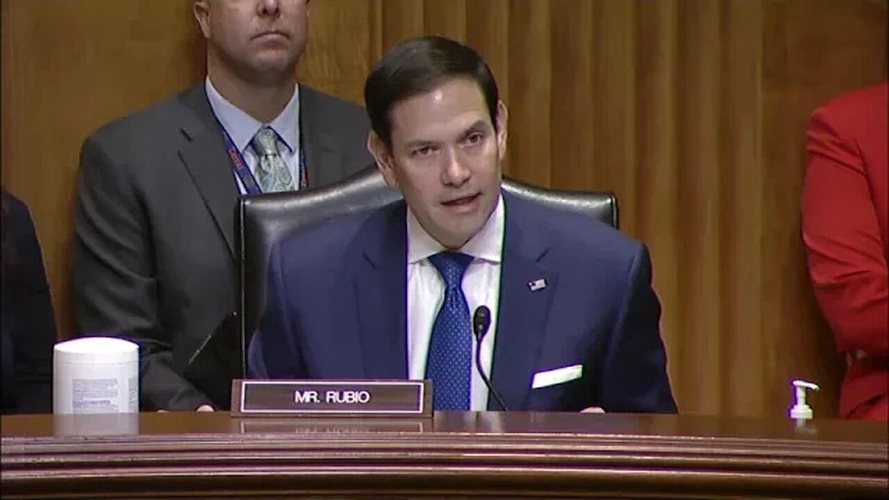
M 60 336 L 87 133 L 203 75 L 188 0 L 3 0 L 3 184 L 30 206 Z M 886 77 L 885 0 L 316 0 L 301 81 L 361 102 L 383 50 L 440 34 L 490 61 L 510 109 L 506 172 L 611 189 L 651 248 L 681 411 L 786 415 L 789 380 L 841 360 L 805 277 L 804 131 Z

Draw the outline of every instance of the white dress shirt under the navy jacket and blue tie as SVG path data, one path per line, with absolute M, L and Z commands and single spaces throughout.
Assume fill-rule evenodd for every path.
M 494 336 L 497 331 L 497 305 L 500 299 L 501 255 L 506 208 L 503 197 L 497 200 L 493 214 L 476 236 L 466 242 L 459 252 L 475 257 L 463 275 L 463 294 L 469 304 L 471 321 L 477 307 L 486 305 L 491 310 L 491 326 L 482 341 L 481 362 L 485 374 L 491 376 Z M 416 216 L 407 210 L 407 359 L 408 373 L 413 380 L 426 378 L 426 359 L 429 339 L 438 309 L 445 298 L 445 280 L 429 262 L 430 255 L 446 248 L 429 236 Z M 472 375 L 470 407 L 473 411 L 487 409 L 488 389 L 476 366 L 476 337 L 472 338 Z M 432 388 L 435 391 L 435 387 Z

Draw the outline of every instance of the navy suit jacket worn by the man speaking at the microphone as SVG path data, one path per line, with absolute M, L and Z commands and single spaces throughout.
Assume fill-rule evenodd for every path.
M 503 199 L 491 378 L 507 407 L 676 412 L 645 246 L 580 214 Z M 276 246 L 250 376 L 407 378 L 405 214 L 398 201 Z M 532 389 L 535 373 L 577 364 L 581 378 Z

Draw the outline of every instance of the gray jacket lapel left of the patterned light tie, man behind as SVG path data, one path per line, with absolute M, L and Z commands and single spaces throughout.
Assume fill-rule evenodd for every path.
M 182 133 L 187 142 L 179 151 L 180 158 L 234 258 L 238 192 L 222 131 L 212 115 L 203 83 L 193 87 L 182 99 L 189 112 L 182 124 Z

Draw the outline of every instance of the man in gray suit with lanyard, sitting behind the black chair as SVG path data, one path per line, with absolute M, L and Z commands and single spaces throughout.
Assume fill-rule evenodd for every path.
M 204 82 L 102 126 L 81 150 L 78 332 L 140 344 L 141 409 L 210 410 L 184 374 L 235 309 L 239 192 L 370 165 L 364 111 L 295 82 L 308 0 L 196 0 Z

